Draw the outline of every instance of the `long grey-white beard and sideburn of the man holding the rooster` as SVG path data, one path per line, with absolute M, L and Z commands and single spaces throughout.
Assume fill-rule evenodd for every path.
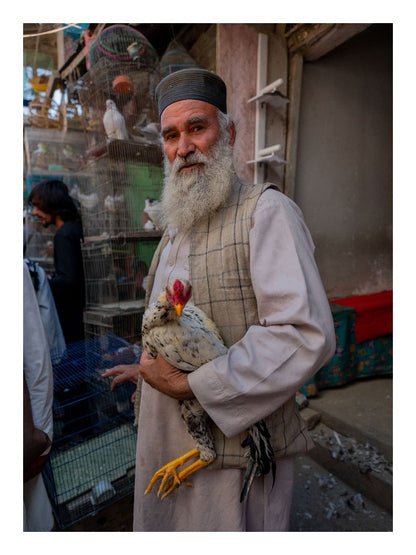
M 162 192 L 162 220 L 168 229 L 185 232 L 201 218 L 224 205 L 231 192 L 234 175 L 232 147 L 224 133 L 208 155 L 199 151 L 186 158 L 177 156 L 171 163 L 165 156 L 165 181 Z M 178 170 L 187 163 L 202 162 L 188 172 Z

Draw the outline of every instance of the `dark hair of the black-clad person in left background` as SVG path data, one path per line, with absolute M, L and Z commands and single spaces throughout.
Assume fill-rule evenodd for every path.
M 31 190 L 28 201 L 46 214 L 60 216 L 64 222 L 80 219 L 77 207 L 69 196 L 68 187 L 58 179 L 37 183 Z

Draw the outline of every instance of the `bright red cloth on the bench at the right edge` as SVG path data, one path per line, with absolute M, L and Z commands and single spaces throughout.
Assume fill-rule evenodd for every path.
M 357 313 L 357 343 L 393 333 L 393 291 L 332 299 L 331 303 L 349 306 Z

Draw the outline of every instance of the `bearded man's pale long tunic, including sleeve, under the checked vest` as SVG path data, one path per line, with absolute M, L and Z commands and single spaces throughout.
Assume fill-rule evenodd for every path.
M 168 279 L 188 277 L 189 239 L 189 233 L 171 234 L 150 302 Z M 276 410 L 333 355 L 333 320 L 313 251 L 300 209 L 276 190 L 265 191 L 250 231 L 250 269 L 263 325 L 250 328 L 226 355 L 188 377 L 195 396 L 228 437 L 246 430 L 249 420 L 254 420 L 252 415 L 260 420 Z M 302 345 L 289 356 L 285 345 L 294 336 L 302 338 Z M 265 388 L 270 391 L 266 401 Z M 156 495 L 160 482 L 144 496 L 156 470 L 193 448 L 178 401 L 144 382 L 138 423 L 135 531 L 289 530 L 294 457 L 277 459 L 274 487 L 270 474 L 255 478 L 243 503 L 239 497 L 245 471 L 209 466 L 190 477 L 193 487 L 183 484 L 163 501 Z

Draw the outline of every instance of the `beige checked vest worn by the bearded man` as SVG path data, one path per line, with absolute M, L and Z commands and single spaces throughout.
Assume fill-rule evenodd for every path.
M 247 329 L 259 324 L 257 303 L 250 278 L 249 231 L 261 193 L 274 185 L 249 185 L 236 179 L 224 209 L 198 222 L 191 233 L 189 281 L 192 301 L 214 320 L 225 344 L 230 347 Z M 160 254 L 169 237 L 165 234 L 149 271 L 152 290 Z M 146 305 L 148 296 L 146 297 Z M 276 457 L 304 453 L 313 447 L 295 402 L 295 397 L 266 419 Z M 246 449 L 241 443 L 246 432 L 226 438 L 213 424 L 217 460 L 210 468 L 245 468 Z

